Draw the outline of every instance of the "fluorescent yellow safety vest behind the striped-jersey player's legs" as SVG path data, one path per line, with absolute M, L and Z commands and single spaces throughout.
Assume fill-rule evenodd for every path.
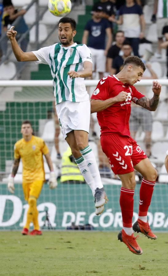
M 68 147 L 67 151 L 65 151 L 62 156 L 60 182 L 64 182 L 68 180 L 83 182 L 84 178 L 78 168 L 78 165 L 71 162 L 69 158 L 71 155 L 72 155 L 71 148 Z

